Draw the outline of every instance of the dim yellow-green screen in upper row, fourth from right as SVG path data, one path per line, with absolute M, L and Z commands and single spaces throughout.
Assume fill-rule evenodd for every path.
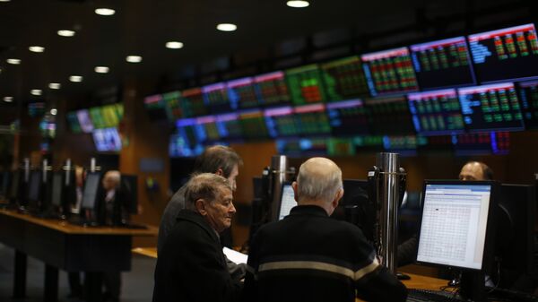
M 366 77 L 359 56 L 321 65 L 327 101 L 369 97 Z

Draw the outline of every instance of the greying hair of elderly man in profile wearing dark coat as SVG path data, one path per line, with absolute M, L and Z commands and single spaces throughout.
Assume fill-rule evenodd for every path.
M 221 188 L 227 188 L 231 191 L 230 182 L 216 174 L 202 173 L 191 177 L 186 185 L 185 207 L 189 210 L 195 210 L 195 203 L 198 199 L 213 203 L 221 194 Z

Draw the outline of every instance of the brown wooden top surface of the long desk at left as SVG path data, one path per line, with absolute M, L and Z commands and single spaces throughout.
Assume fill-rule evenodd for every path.
M 115 236 L 157 236 L 159 228 L 147 226 L 148 229 L 126 229 L 114 227 L 82 227 L 68 223 L 66 220 L 47 220 L 38 217 L 32 217 L 28 214 L 18 213 L 16 211 L 0 210 L 0 215 L 14 217 L 25 220 L 48 229 L 55 229 L 65 234 L 77 235 L 115 235 Z

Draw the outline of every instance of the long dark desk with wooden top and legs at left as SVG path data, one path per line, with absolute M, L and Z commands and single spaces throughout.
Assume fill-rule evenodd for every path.
M 15 249 L 13 298 L 26 291 L 30 255 L 45 263 L 45 301 L 57 301 L 58 270 L 85 272 L 87 301 L 101 301 L 102 272 L 130 271 L 133 236 L 157 236 L 158 229 L 85 228 L 0 210 L 0 242 Z

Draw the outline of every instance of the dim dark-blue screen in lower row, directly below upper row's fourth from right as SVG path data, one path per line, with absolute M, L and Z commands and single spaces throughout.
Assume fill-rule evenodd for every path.
M 368 118 L 361 99 L 350 99 L 325 105 L 334 135 L 368 134 Z

